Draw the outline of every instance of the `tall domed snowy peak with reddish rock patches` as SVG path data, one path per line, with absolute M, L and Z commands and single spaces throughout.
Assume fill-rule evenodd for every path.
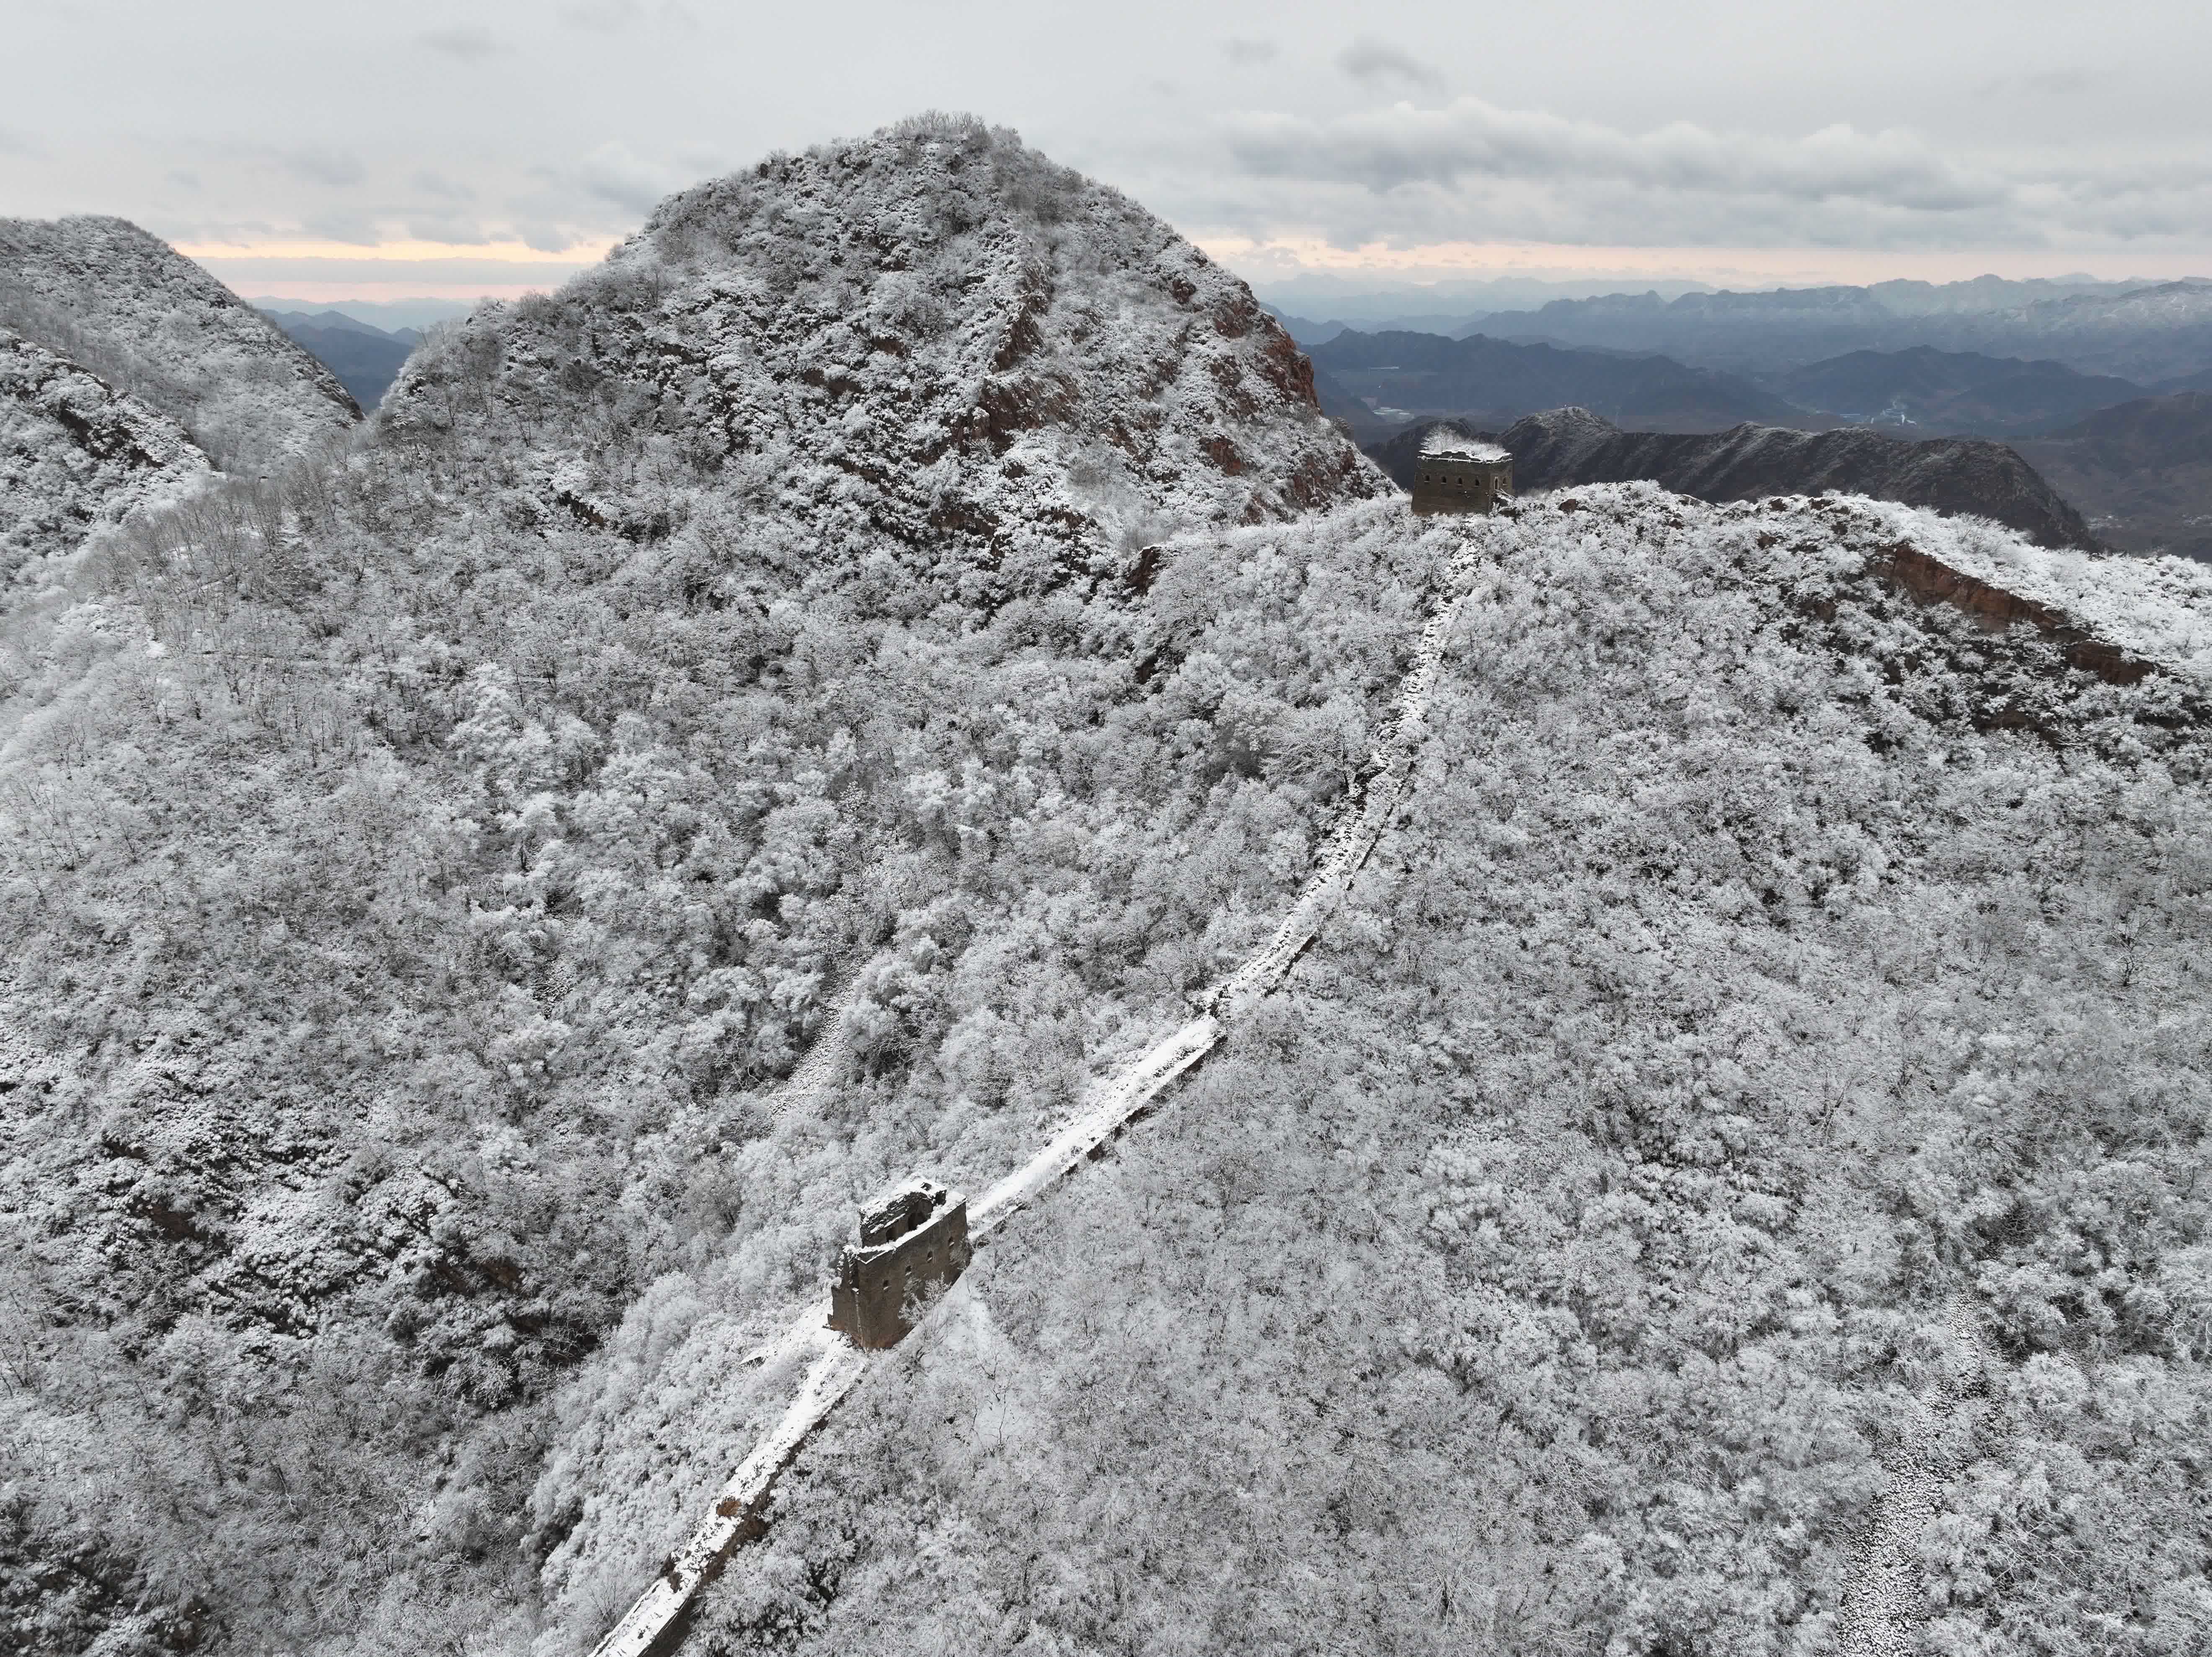
M 896 544 L 962 591 L 1389 491 L 1237 277 L 942 117 L 670 197 L 599 270 L 418 352 L 380 418 L 520 440 L 542 500 L 633 538 L 670 487 L 734 487 L 814 557 Z

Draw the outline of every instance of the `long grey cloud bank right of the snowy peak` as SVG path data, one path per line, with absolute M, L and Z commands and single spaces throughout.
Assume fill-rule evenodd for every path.
M 2006 199 L 2002 181 L 1964 173 L 1909 135 L 1849 126 L 1798 139 L 1710 133 L 1688 122 L 1624 133 L 1460 97 L 1444 108 L 1400 104 L 1327 122 L 1239 115 L 1225 131 L 1230 153 L 1248 173 L 1358 184 L 1376 192 L 1528 179 L 1568 188 L 1604 181 L 1692 195 L 1856 199 L 1913 212 L 1962 212 Z

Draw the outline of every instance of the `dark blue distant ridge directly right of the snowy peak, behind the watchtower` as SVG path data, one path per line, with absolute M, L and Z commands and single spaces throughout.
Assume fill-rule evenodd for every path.
M 1564 352 L 1502 338 L 1442 334 L 1360 334 L 1347 330 L 1314 352 L 1325 372 L 1358 398 L 1416 414 L 1511 418 L 1535 409 L 1582 405 L 1615 420 L 1734 425 L 1785 420 L 1796 409 L 1728 374 L 1683 367 L 1663 356 Z M 1376 416 L 1360 409 L 1332 414 Z

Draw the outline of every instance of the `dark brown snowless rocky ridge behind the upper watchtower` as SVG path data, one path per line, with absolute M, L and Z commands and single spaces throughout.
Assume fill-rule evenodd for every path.
M 1422 431 L 1413 429 L 1369 454 L 1402 482 L 1420 454 L 1420 438 Z M 2081 513 L 2035 467 L 1986 438 L 1911 442 L 1860 429 L 1790 431 L 1767 425 L 1710 434 L 1621 431 L 1588 409 L 1551 409 L 1515 420 L 1498 442 L 1513 451 L 1513 487 L 1522 493 L 1641 478 L 1697 500 L 1834 489 L 1991 518 L 2042 546 L 2097 546 Z

